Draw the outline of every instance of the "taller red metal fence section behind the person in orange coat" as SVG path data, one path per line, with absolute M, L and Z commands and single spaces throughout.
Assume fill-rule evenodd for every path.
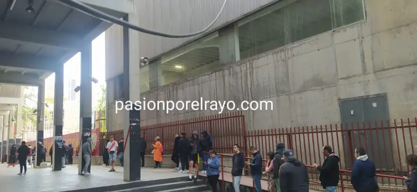
M 188 120 L 145 125 L 141 127 L 141 135 L 148 146 L 154 144 L 158 136 L 164 146 L 164 154 L 171 154 L 174 146 L 174 135 L 185 132 L 187 137 L 193 131 L 199 134 L 206 129 L 213 138 L 213 148 L 218 152 L 231 153 L 233 144 L 246 147 L 245 120 L 242 112 L 232 112 Z M 151 148 L 146 149 L 146 154 L 151 154 Z

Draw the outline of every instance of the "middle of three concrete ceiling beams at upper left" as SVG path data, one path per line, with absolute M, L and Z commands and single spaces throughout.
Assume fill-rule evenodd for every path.
M 1 31 L 1 30 L 0 30 Z M 1 33 L 1 32 L 0 32 Z M 29 55 L 15 55 L 0 51 L 0 65 L 6 67 L 27 68 L 55 72 L 58 69 L 58 60 Z

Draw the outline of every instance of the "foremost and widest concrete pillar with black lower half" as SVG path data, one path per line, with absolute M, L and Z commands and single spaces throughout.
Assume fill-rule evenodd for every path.
M 133 6 L 136 7 L 138 6 Z M 131 24 L 139 24 L 138 18 L 135 14 L 129 14 Z M 132 43 L 130 43 L 132 42 Z M 146 45 L 144 45 L 146 46 Z M 146 57 L 146 55 L 141 55 Z M 139 32 L 123 28 L 123 98 L 124 101 L 138 101 L 140 100 L 140 81 L 139 78 Z M 135 109 L 136 108 L 136 109 Z M 125 148 L 124 148 L 124 172 L 123 179 L 125 181 L 140 180 L 140 111 L 137 106 L 133 110 L 125 111 L 123 113 L 123 127 L 125 134 Z M 123 146 L 119 146 L 123 147 Z M 130 164 L 131 162 L 131 164 Z

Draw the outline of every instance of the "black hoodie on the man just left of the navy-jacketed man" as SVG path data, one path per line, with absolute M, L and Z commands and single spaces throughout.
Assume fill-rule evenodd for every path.
M 320 182 L 324 189 L 326 187 L 338 186 L 339 183 L 339 157 L 335 153 L 330 153 L 324 160 L 322 166 L 318 166 L 320 171 Z

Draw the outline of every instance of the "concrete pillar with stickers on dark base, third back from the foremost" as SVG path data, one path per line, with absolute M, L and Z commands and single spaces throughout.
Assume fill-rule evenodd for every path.
M 62 157 L 64 156 L 64 146 L 62 144 L 62 122 L 64 108 L 64 65 L 59 64 L 59 69 L 55 72 L 55 95 L 53 104 L 53 153 L 52 170 L 62 169 Z

